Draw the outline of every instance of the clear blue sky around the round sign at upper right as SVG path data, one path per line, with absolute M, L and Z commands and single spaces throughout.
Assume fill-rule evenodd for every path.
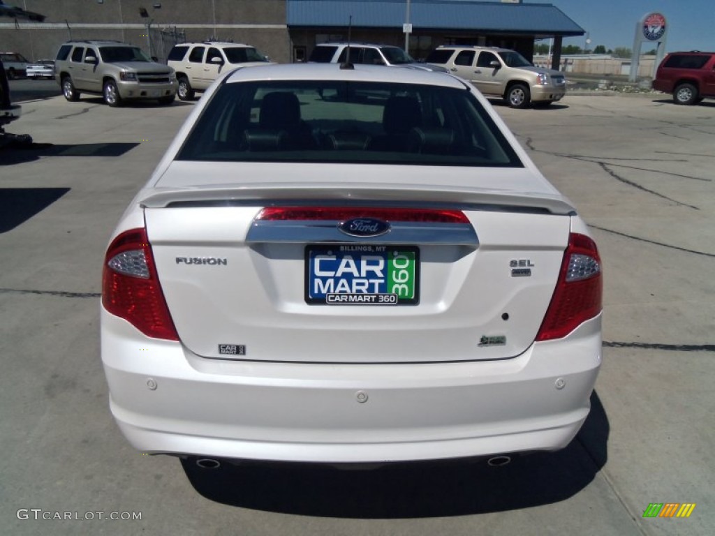
M 665 16 L 668 35 L 666 51 L 715 51 L 715 0 L 524 0 L 524 4 L 552 4 L 588 31 L 591 43 L 606 49 L 633 47 L 636 23 L 646 13 Z M 563 40 L 583 49 L 583 37 Z M 655 46 L 644 44 L 642 52 Z

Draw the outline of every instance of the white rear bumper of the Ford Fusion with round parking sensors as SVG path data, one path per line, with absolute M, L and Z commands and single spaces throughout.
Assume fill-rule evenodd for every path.
M 203 359 L 102 309 L 112 414 L 148 453 L 390 462 L 558 450 L 586 419 L 601 318 L 513 359 L 285 364 Z

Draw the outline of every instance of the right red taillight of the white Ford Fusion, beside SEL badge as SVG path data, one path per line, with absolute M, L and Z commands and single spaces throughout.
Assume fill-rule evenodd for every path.
M 602 309 L 602 294 L 601 257 L 596 243 L 583 234 L 571 233 L 556 289 L 536 340 L 561 339 L 596 317 Z

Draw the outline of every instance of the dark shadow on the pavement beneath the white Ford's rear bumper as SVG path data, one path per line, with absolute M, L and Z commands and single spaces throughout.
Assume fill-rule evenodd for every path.
M 182 460 L 189 481 L 209 500 L 254 510 L 320 517 L 393 519 L 518 510 L 568 499 L 607 460 L 608 418 L 598 394 L 575 440 L 554 453 L 485 460 L 385 465 L 348 471 L 312 464 L 252 463 L 219 470 Z

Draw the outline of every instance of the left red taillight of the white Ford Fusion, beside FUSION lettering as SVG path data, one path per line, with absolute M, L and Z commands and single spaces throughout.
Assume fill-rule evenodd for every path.
M 109 245 L 102 272 L 102 304 L 148 337 L 179 340 L 146 229 L 123 232 Z

